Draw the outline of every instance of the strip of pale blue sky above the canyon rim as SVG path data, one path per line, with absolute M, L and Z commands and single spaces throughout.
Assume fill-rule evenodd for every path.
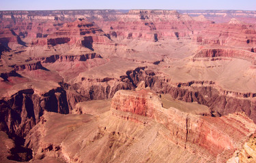
M 256 0 L 0 0 L 0 10 L 256 10 Z

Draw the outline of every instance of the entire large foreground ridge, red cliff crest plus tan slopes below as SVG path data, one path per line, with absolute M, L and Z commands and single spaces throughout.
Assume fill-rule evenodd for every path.
M 226 162 L 256 129 L 244 113 L 205 117 L 163 108 L 161 100 L 152 90 L 119 90 L 111 106 L 90 101 L 95 106 L 105 103 L 110 111 L 45 112 L 26 137 L 25 145 L 35 154 L 31 161 L 55 157 L 64 162 Z

